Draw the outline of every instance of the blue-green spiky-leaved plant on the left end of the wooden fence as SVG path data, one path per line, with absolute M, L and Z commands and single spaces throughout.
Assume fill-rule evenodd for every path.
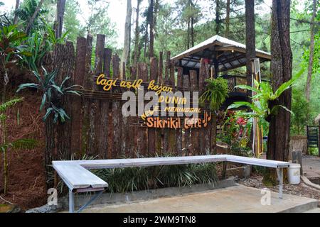
M 16 92 L 20 92 L 23 89 L 38 89 L 42 92 L 40 111 L 46 107 L 46 114 L 43 116 L 43 121 L 47 121 L 50 115 L 53 115 L 53 123 L 57 123 L 59 119 L 62 123 L 64 123 L 66 119 L 70 119 L 63 109 L 61 100 L 66 94 L 80 96 L 81 93 L 76 91 L 75 88 L 82 87 L 79 85 L 66 86 L 70 77 L 65 77 L 61 84 L 57 84 L 55 82 L 55 77 L 57 77 L 58 74 L 57 71 L 47 72 L 46 69 L 43 68 L 43 76 L 36 71 L 33 71 L 33 74 L 38 83 L 21 84 Z

